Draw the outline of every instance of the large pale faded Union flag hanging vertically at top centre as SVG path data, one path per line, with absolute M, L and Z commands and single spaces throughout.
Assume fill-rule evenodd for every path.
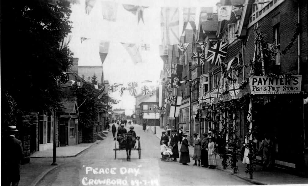
M 180 43 L 179 23 L 179 10 L 177 8 L 161 8 L 160 28 L 162 45 Z

